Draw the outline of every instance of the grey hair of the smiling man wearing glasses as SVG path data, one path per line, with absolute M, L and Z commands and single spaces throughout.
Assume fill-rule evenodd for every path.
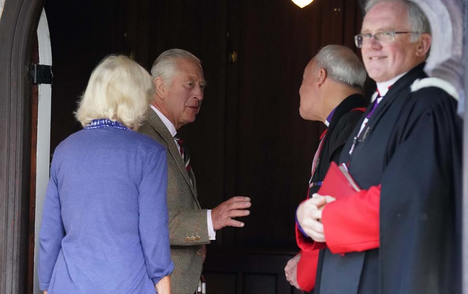
M 375 4 L 380 2 L 400 2 L 405 4 L 407 7 L 407 18 L 409 23 L 409 29 L 413 32 L 427 33 L 431 35 L 429 21 L 421 8 L 414 2 L 409 0 L 368 0 L 366 3 L 366 13 L 372 8 Z M 418 34 L 411 35 L 411 42 L 418 41 Z

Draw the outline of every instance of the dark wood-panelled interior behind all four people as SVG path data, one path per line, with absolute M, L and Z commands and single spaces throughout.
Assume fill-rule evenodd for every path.
M 295 293 L 283 269 L 298 251 L 294 212 L 323 129 L 299 116 L 299 87 L 321 47 L 355 48 L 359 1 L 314 0 L 301 9 L 290 0 L 46 0 L 45 11 L 54 72 L 51 150 L 81 128 L 72 113 L 104 56 L 124 53 L 149 70 L 166 49 L 192 52 L 208 87 L 197 121 L 181 134 L 200 202 L 213 208 L 246 195 L 253 205 L 243 229 L 218 231 L 208 245 L 208 292 Z

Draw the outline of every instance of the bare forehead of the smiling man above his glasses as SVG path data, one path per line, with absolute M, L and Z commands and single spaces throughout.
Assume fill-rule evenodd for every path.
M 407 15 L 407 7 L 401 2 L 380 2 L 366 13 L 361 33 L 409 30 Z

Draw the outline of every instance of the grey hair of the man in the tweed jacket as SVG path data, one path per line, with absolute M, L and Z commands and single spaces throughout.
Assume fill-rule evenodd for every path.
M 177 70 L 179 60 L 190 60 L 202 64 L 192 53 L 182 49 L 169 49 L 161 53 L 151 67 L 151 77 L 154 79 L 161 77 L 166 84 L 170 84 Z

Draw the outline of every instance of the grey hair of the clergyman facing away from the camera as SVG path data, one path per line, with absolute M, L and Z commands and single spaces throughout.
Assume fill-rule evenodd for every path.
M 327 45 L 315 55 L 314 62 L 319 68 L 324 68 L 327 76 L 335 82 L 360 88 L 366 82 L 364 64 L 346 46 Z

